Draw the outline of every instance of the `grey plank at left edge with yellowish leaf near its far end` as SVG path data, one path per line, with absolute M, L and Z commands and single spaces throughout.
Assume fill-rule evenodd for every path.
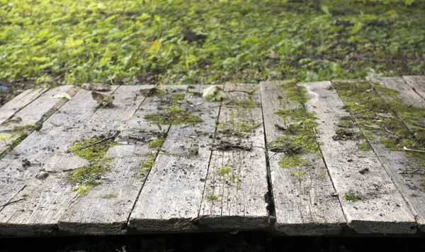
M 42 96 L 18 111 L 18 113 L 13 115 L 9 120 L 0 124 L 0 136 L 12 135 L 12 137 L 8 139 L 9 143 L 12 143 L 17 139 L 25 139 L 25 134 L 30 134 L 34 130 L 33 127 L 28 126 L 38 125 L 38 123 L 44 122 L 60 107 L 62 107 L 62 105 L 67 103 L 67 98 L 52 98 L 52 96 L 60 93 L 68 93 L 69 96 L 72 97 L 75 93 L 77 93 L 77 87 L 59 86 L 42 94 Z M 28 127 L 26 129 L 14 130 L 18 127 L 26 126 Z M 11 130 L 13 132 L 11 132 Z M 9 147 L 8 150 L 9 149 L 11 148 Z M 6 154 L 6 146 L 2 144 L 0 145 L 0 156 L 3 156 L 4 154 Z

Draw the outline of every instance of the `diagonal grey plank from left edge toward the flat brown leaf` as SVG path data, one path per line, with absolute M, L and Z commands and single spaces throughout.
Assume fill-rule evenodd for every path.
M 113 86 L 111 92 L 116 88 L 118 86 Z M 87 105 L 88 101 L 90 105 Z M 40 169 L 38 165 L 23 168 L 22 160 L 28 159 L 34 164 L 43 163 L 57 147 L 64 144 L 67 136 L 60 133 L 61 131 L 84 125 L 85 120 L 96 111 L 94 110 L 96 104 L 91 101 L 91 92 L 80 90 L 71 101 L 65 103 L 57 113 L 43 122 L 41 130 L 34 131 L 0 160 L 0 205 L 11 200 L 28 178 L 35 176 Z

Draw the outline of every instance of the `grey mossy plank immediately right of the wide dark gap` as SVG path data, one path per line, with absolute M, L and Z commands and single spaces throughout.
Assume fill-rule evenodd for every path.
M 286 134 L 275 125 L 288 126 L 276 112 L 302 108 L 300 103 L 290 101 L 282 88 L 282 81 L 261 82 L 264 127 L 266 142 L 271 143 L 276 137 Z M 341 232 L 345 217 L 331 183 L 323 159 L 316 155 L 305 155 L 309 163 L 305 166 L 281 168 L 278 161 L 283 153 L 268 151 L 271 171 L 271 185 L 274 205 L 276 207 L 276 229 L 288 235 L 321 236 L 335 235 Z M 302 180 L 291 176 L 302 171 Z

